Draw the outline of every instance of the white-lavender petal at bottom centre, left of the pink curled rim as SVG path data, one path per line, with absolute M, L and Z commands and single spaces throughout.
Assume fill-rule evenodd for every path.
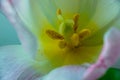
M 88 66 L 87 66 L 88 67 Z M 83 80 L 86 66 L 64 66 L 51 71 L 42 80 Z

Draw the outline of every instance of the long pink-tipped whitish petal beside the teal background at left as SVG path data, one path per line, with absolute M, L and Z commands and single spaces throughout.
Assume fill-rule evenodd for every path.
M 34 57 L 37 51 L 37 40 L 19 19 L 11 4 L 11 0 L 1 0 L 1 9 L 13 24 L 22 46 L 28 53 L 30 53 L 30 55 L 32 55 L 32 57 Z

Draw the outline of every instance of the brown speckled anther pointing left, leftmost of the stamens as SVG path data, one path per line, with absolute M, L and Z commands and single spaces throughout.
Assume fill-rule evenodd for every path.
M 64 37 L 61 34 L 55 32 L 53 30 L 46 30 L 46 34 L 52 39 L 58 39 L 58 40 L 64 39 Z

